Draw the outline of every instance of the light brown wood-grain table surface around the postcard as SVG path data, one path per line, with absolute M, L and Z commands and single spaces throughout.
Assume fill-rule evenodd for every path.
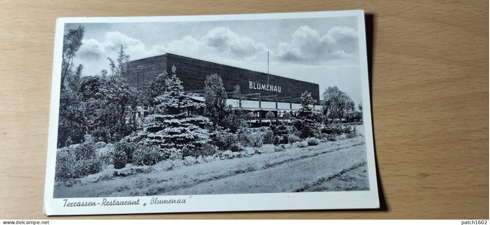
M 489 2 L 0 0 L 0 219 L 43 215 L 57 17 L 364 9 L 383 210 L 49 219 L 489 219 Z

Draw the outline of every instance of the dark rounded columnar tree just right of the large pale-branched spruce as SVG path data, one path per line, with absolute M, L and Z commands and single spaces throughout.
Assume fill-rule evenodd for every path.
M 228 114 L 226 110 L 228 97 L 221 77 L 218 74 L 210 75 L 204 84 L 206 86 L 204 88 L 204 102 L 206 103 L 204 115 L 215 125 L 225 125 L 222 122 Z

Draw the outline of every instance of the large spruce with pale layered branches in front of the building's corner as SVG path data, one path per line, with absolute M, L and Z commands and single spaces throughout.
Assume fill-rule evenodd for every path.
M 158 146 L 166 158 L 172 152 L 180 152 L 183 157 L 197 156 L 196 150 L 210 141 L 205 127 L 211 122 L 195 114 L 204 104 L 193 100 L 193 94 L 184 92 L 176 70 L 172 66 L 172 75 L 165 79 L 165 92 L 155 98 L 159 113 L 150 116 L 153 123 L 129 137 L 144 145 Z

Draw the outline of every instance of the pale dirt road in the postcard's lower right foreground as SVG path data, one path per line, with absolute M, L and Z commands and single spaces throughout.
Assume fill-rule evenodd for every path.
M 212 180 L 160 195 L 243 194 L 304 191 L 363 166 L 366 146 L 357 145 L 270 168 Z

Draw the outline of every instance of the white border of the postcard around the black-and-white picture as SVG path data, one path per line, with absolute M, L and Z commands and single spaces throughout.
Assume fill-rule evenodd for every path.
M 204 20 L 258 20 L 292 19 L 321 17 L 358 17 L 359 55 L 363 96 L 363 121 L 368 158 L 369 191 L 306 192 L 306 193 L 261 193 L 226 195 L 186 195 L 186 196 L 140 196 L 107 198 L 53 198 L 54 174 L 56 165 L 56 145 L 60 97 L 61 59 L 65 23 L 89 22 L 170 22 Z M 51 88 L 51 110 L 49 122 L 49 142 L 47 174 L 45 186 L 46 215 L 85 215 L 85 214 L 127 214 L 127 213 L 169 213 L 169 212 L 214 212 L 214 211 L 262 211 L 262 210 L 304 210 L 304 209 L 353 209 L 379 208 L 376 178 L 374 143 L 372 133 L 371 107 L 369 97 L 368 61 L 363 10 L 273 13 L 242 15 L 206 16 L 165 16 L 165 17 L 93 17 L 59 18 L 56 23 L 54 60 Z M 185 203 L 151 204 L 152 198 L 159 200 L 185 200 Z M 111 201 L 137 201 L 139 205 L 100 205 Z M 95 202 L 94 206 L 69 207 L 67 203 Z M 145 205 L 144 205 L 145 204 Z M 69 205 L 69 204 L 68 204 Z

